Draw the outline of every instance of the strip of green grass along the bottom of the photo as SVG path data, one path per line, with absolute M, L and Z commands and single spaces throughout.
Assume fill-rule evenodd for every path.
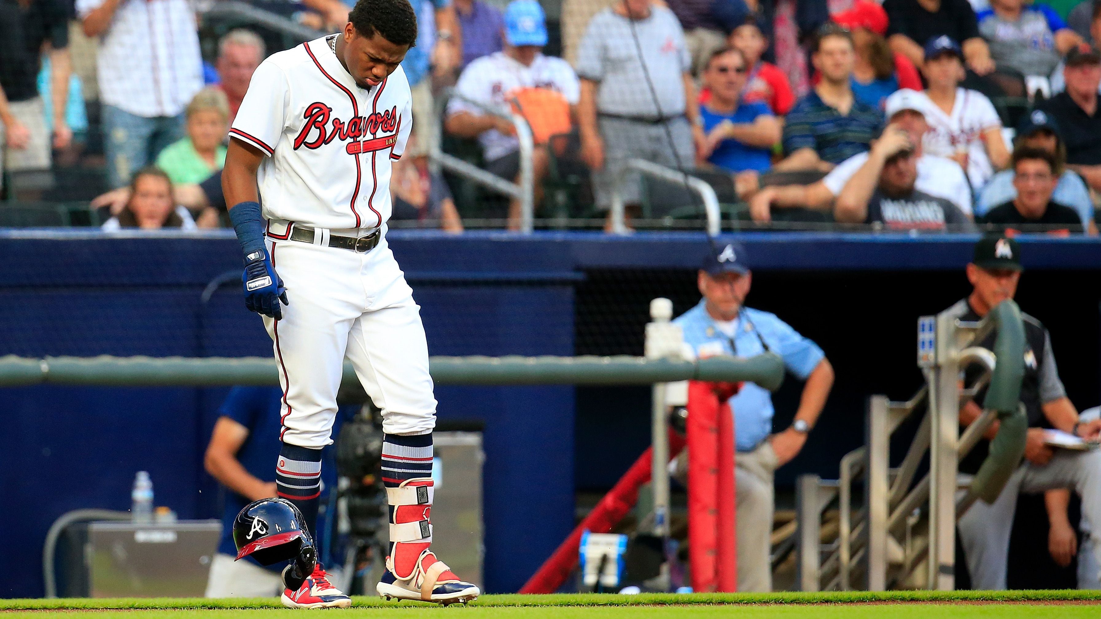
M 94 612 L 126 619 L 292 619 L 275 599 L 0 599 L 3 619 Z M 1101 616 L 1101 592 L 846 592 L 831 594 L 487 595 L 470 606 L 357 597 L 344 619 L 1079 619 Z

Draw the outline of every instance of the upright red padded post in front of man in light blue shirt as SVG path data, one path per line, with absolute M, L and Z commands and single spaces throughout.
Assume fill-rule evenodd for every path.
M 731 384 L 688 384 L 688 563 L 697 593 L 738 588 Z

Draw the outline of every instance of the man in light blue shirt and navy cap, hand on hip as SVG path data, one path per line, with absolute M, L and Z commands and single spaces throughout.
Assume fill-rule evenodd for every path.
M 768 554 L 773 522 L 773 473 L 789 462 L 807 440 L 833 386 L 833 368 L 817 344 L 766 311 L 744 307 L 753 274 L 745 248 L 719 245 L 699 269 L 699 305 L 674 322 L 697 357 L 749 357 L 766 351 L 778 354 L 787 371 L 805 380 L 795 421 L 772 433 L 772 398 L 766 389 L 746 383 L 730 398 L 738 446 L 738 590 L 768 592 Z

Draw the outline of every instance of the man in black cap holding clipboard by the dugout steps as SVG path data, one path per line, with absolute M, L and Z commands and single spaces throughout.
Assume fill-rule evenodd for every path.
M 975 244 L 974 259 L 967 265 L 973 290 L 950 308 L 962 321 L 979 321 L 998 303 L 1012 299 L 1021 279 L 1021 246 L 1005 236 L 985 236 Z M 1082 422 L 1075 405 L 1067 398 L 1059 379 L 1051 338 L 1040 321 L 1023 313 L 1025 327 L 1025 374 L 1021 384 L 1021 404 L 1028 414 L 1025 461 L 1010 478 L 993 505 L 977 501 L 959 521 L 972 588 L 1004 589 L 1013 512 L 1021 493 L 1045 493 L 1051 529 L 1048 550 L 1062 565 L 1077 553 L 1077 537 L 1067 519 L 1070 490 L 1082 498 L 1082 520 L 1090 530 L 1101 531 L 1101 451 L 1084 443 L 1097 443 L 1101 421 Z M 996 334 L 979 345 L 993 350 Z M 960 407 L 960 424 L 969 425 L 982 410 L 974 400 Z M 1060 431 L 1053 433 L 1051 430 Z M 985 439 L 998 431 L 991 425 Z M 1057 446 L 1053 445 L 1056 443 Z M 1066 443 L 1062 444 L 1062 443 Z M 1065 449 L 1070 443 L 1078 449 Z M 986 456 L 988 443 L 980 441 L 960 463 L 964 473 L 974 473 Z M 1094 557 L 1101 560 L 1101 535 L 1091 539 Z M 1095 576 L 1094 576 L 1095 578 Z M 1079 587 L 1099 588 L 1101 583 L 1079 583 Z

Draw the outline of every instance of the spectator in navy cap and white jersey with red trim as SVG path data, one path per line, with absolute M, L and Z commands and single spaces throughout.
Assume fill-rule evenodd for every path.
M 925 91 L 929 99 L 925 112 L 929 123 L 923 142 L 925 152 L 960 164 L 968 173 L 971 188 L 979 191 L 995 169 L 1010 162 L 1002 137 L 1002 119 L 985 95 L 960 88 L 963 53 L 947 35 L 925 45 L 922 70 L 929 82 Z

